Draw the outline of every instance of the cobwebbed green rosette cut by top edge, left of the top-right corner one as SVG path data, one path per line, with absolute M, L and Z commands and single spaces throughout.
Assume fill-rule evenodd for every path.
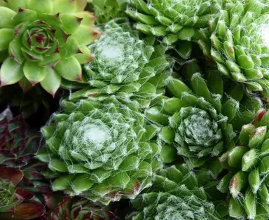
M 127 15 L 145 34 L 162 36 L 167 45 L 178 42 L 177 52 L 188 60 L 193 48 L 221 6 L 221 0 L 131 0 Z

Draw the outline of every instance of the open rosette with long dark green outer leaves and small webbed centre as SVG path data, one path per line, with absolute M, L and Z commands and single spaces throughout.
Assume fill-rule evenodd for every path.
M 205 75 L 195 60 L 181 69 L 182 80 L 169 78 L 166 95 L 146 109 L 146 118 L 160 126 L 161 156 L 166 163 L 186 158 L 191 167 L 202 166 L 234 145 L 235 132 L 253 120 L 261 108 L 257 97 L 246 97 L 242 87 L 223 91 L 219 71 Z

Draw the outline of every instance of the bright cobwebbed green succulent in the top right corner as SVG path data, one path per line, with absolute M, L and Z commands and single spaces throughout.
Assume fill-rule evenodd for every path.
M 205 40 L 198 43 L 223 76 L 242 83 L 247 92 L 258 91 L 268 98 L 268 32 L 267 1 L 226 0 L 210 20 L 209 34 L 205 30 Z

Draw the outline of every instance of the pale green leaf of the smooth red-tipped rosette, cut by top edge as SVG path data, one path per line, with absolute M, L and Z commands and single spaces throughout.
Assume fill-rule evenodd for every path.
M 52 0 L 29 0 L 27 4 L 28 9 L 39 13 L 52 13 L 53 12 L 53 1 Z

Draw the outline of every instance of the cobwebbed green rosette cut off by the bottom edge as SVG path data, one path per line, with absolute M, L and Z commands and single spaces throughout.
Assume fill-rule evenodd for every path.
M 132 201 L 137 212 L 127 219 L 221 219 L 214 204 L 207 200 L 204 188 L 198 184 L 195 173 L 184 164 L 162 169 L 154 174 L 149 191 Z

